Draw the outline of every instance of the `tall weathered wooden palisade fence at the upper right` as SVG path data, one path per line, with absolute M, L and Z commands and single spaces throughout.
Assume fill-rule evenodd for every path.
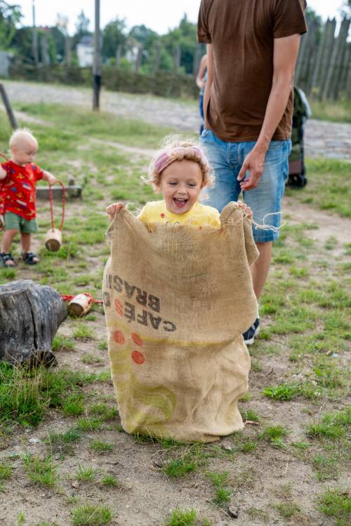
M 307 20 L 308 22 L 308 20 Z M 350 19 L 344 18 L 336 35 L 336 20 L 324 27 L 315 20 L 301 37 L 295 81 L 305 93 L 319 100 L 351 99 Z

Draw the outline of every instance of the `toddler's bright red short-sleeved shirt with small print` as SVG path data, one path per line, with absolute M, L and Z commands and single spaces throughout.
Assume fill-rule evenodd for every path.
M 13 161 L 1 164 L 6 177 L 0 180 L 0 214 L 13 212 L 25 220 L 36 216 L 35 187 L 44 172 L 34 163 L 20 166 Z

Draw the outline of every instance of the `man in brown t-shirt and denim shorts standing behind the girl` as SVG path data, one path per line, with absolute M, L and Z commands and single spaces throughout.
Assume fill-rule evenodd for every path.
M 222 210 L 243 191 L 256 223 L 272 226 L 253 227 L 260 252 L 252 268 L 257 298 L 279 235 L 305 7 L 305 0 L 201 0 L 199 11 L 197 34 L 207 45 L 208 72 L 200 142 L 216 173 L 206 204 Z M 259 318 L 244 335 L 247 344 L 258 328 Z

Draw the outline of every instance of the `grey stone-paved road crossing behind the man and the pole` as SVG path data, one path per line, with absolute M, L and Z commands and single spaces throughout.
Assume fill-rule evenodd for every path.
M 16 102 L 48 102 L 91 107 L 91 90 L 20 81 L 4 82 L 8 97 Z M 112 114 L 142 119 L 182 132 L 196 132 L 199 126 L 197 102 L 168 100 L 151 95 L 130 95 L 102 91 L 101 108 Z M 310 119 L 305 126 L 307 157 L 325 156 L 351 161 L 351 123 Z

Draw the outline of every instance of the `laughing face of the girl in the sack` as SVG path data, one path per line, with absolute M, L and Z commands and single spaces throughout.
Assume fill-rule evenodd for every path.
M 202 187 L 201 168 L 194 161 L 174 161 L 161 173 L 159 189 L 168 212 L 185 214 L 197 202 Z

